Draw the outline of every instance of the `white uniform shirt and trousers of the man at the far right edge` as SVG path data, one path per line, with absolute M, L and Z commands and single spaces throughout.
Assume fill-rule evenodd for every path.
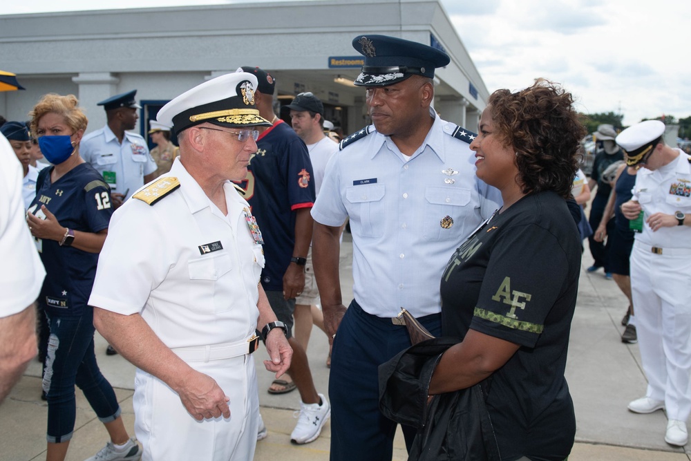
M 691 166 L 679 157 L 656 171 L 638 170 L 632 200 L 651 214 L 691 214 Z M 631 253 L 632 317 L 638 332 L 646 396 L 665 402 L 670 420 L 691 413 L 691 227 L 647 223 Z

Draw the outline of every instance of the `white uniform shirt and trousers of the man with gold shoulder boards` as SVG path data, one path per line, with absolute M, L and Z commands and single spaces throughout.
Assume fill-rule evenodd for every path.
M 89 304 L 141 314 L 164 344 L 230 397 L 229 420 L 198 422 L 171 388 L 137 370 L 133 405 L 142 460 L 252 460 L 254 360 L 247 354 L 216 357 L 223 357 L 220 345 L 247 344 L 254 335 L 262 247 L 249 230 L 249 205 L 231 182 L 224 216 L 179 158 L 142 191 L 165 186 L 171 177 L 180 188 L 160 202 L 150 206 L 135 198 L 113 214 Z

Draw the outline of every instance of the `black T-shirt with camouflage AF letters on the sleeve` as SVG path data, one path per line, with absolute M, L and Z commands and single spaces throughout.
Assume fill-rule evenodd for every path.
M 580 236 L 563 198 L 525 196 L 451 256 L 442 332 L 468 328 L 519 344 L 493 373 L 487 406 L 502 458 L 564 460 L 576 417 L 564 377 L 580 274 Z

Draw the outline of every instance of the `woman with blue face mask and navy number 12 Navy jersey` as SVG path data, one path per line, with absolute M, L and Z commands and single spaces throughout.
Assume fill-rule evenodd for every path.
M 64 460 L 75 428 L 75 384 L 106 426 L 111 442 L 89 460 L 138 460 L 140 450 L 120 417 L 111 384 L 93 348 L 87 304 L 98 254 L 113 214 L 110 188 L 79 156 L 86 115 L 74 95 L 44 95 L 29 114 L 41 152 L 54 166 L 41 171 L 26 222 L 46 267 L 39 303 L 50 337 L 43 388 L 48 399 L 47 461 Z

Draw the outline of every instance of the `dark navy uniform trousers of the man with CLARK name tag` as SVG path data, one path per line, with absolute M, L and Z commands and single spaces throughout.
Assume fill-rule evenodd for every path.
M 418 319 L 441 335 L 441 314 Z M 379 411 L 378 367 L 410 347 L 405 326 L 375 317 L 353 300 L 334 338 L 329 377 L 331 460 L 390 460 L 397 423 Z M 403 426 L 406 446 L 415 428 Z

